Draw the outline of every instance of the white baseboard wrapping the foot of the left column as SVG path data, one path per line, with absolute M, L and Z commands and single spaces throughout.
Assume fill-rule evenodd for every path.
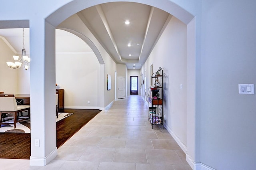
M 57 156 L 57 147 L 50 154 L 48 154 L 44 158 L 37 158 L 30 156 L 30 166 L 46 166 L 51 160 L 53 160 Z

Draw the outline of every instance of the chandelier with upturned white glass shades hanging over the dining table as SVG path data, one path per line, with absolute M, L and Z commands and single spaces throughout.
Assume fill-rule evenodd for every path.
M 12 69 L 20 68 L 24 65 L 25 70 L 28 70 L 30 58 L 26 56 L 26 49 L 24 45 L 24 28 L 23 28 L 23 49 L 22 49 L 22 57 L 18 55 L 13 55 L 14 62 L 6 62 L 8 67 Z

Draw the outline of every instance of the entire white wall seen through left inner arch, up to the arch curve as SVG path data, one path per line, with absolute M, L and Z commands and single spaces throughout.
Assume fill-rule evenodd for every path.
M 59 29 L 56 29 L 56 83 L 59 89 L 64 89 L 64 108 L 99 109 L 100 63 L 86 42 Z

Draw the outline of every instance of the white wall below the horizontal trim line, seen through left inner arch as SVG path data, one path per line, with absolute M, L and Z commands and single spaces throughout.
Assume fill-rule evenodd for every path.
M 57 53 L 56 83 L 64 89 L 64 108 L 99 109 L 99 75 L 100 64 L 92 51 Z

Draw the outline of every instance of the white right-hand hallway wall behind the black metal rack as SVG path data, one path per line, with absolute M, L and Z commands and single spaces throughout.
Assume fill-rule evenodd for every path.
M 152 63 L 153 73 L 159 67 L 164 69 L 164 115 L 166 115 L 164 125 L 186 149 L 186 25 L 174 16 L 143 65 L 143 69 L 146 69 L 147 87 L 150 86 L 149 72 Z M 180 84 L 183 85 L 183 90 L 180 90 Z M 148 90 L 146 93 L 149 93 Z

